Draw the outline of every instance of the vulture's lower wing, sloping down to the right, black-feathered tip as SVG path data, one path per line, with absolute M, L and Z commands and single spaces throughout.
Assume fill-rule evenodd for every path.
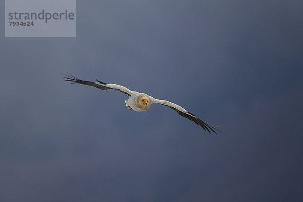
M 153 103 L 159 103 L 159 104 L 168 106 L 169 108 L 175 110 L 179 115 L 181 115 L 185 118 L 188 118 L 189 120 L 195 122 L 195 124 L 197 124 L 197 125 L 200 125 L 201 127 L 203 127 L 203 129 L 209 131 L 209 133 L 211 133 L 211 131 L 213 131 L 217 134 L 216 130 L 220 131 L 219 129 L 216 128 L 218 126 L 210 125 L 210 124 L 204 122 L 203 120 L 199 119 L 196 115 L 188 112 L 187 110 L 185 110 L 184 108 L 182 108 L 181 106 L 179 106 L 175 103 L 169 102 L 167 100 L 158 100 L 158 99 L 153 100 Z

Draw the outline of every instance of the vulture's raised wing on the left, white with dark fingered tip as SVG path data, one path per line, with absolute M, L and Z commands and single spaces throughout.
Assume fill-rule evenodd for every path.
M 84 85 L 96 87 L 101 90 L 115 89 L 117 91 L 120 91 L 120 92 L 126 94 L 128 97 L 130 97 L 133 94 L 133 92 L 131 90 L 125 88 L 124 86 L 120 86 L 117 84 L 106 84 L 106 83 L 100 82 L 98 80 L 96 80 L 97 82 L 83 81 L 83 80 L 80 80 L 80 79 L 74 77 L 71 74 L 69 74 L 69 75 L 63 74 L 63 75 L 65 76 L 63 78 L 67 79 L 65 81 L 72 82 L 72 84 L 84 84 Z

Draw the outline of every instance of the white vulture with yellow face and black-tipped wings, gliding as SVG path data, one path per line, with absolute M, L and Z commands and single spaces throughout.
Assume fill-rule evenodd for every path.
M 71 74 L 69 74 L 69 75 L 63 74 L 63 75 L 64 75 L 63 78 L 66 79 L 65 81 L 72 82 L 72 84 L 83 84 L 83 85 L 93 86 L 93 87 L 96 87 L 101 90 L 114 89 L 114 90 L 117 90 L 117 91 L 120 91 L 120 92 L 126 94 L 129 97 L 128 100 L 125 100 L 125 105 L 128 109 L 131 109 L 134 111 L 145 111 L 150 107 L 151 104 L 159 103 L 159 104 L 168 106 L 169 108 L 175 110 L 179 115 L 195 122 L 197 125 L 200 125 L 204 130 L 207 130 L 209 133 L 211 133 L 211 131 L 213 131 L 217 134 L 216 131 L 220 131 L 219 129 L 216 128 L 218 126 L 214 126 L 214 125 L 204 122 L 203 120 L 199 119 L 196 115 L 190 113 L 189 111 L 185 110 L 181 106 L 179 106 L 175 103 L 169 102 L 167 100 L 158 100 L 149 95 L 146 95 L 145 93 L 131 91 L 131 90 L 125 88 L 124 86 L 120 86 L 117 84 L 106 84 L 106 83 L 100 82 L 98 80 L 96 80 L 96 82 L 83 81 L 83 80 L 80 80 L 80 79 L 72 76 Z

